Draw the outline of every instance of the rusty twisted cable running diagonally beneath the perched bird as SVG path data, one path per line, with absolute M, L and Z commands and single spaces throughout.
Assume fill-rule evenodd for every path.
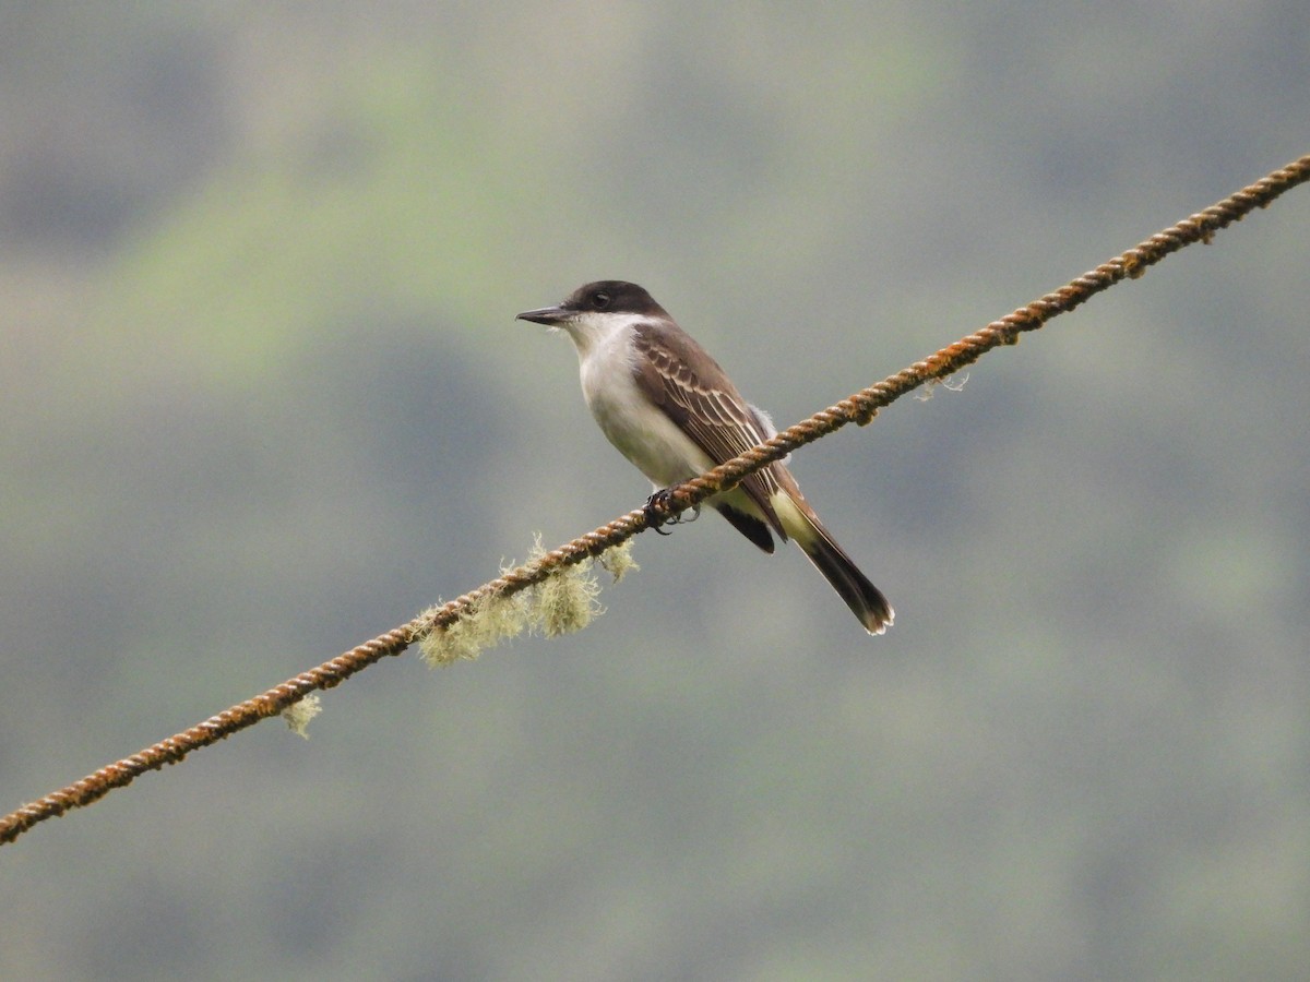
M 1102 263 L 1091 272 L 1083 274 L 1053 293 L 1047 293 L 1040 300 L 1019 308 L 1000 321 L 993 321 L 977 333 L 942 348 L 925 361 L 917 361 L 876 385 L 862 389 L 850 398 L 789 427 L 740 457 L 734 457 L 714 470 L 680 484 L 672 490 L 668 511 L 690 508 L 710 495 L 736 484 L 760 467 L 781 460 L 793 450 L 814 443 L 848 423 L 869 423 L 880 409 L 901 395 L 926 382 L 942 380 L 959 372 L 1000 344 L 1014 344 L 1020 333 L 1041 327 L 1052 317 L 1073 310 L 1127 276 L 1141 276 L 1148 267 L 1158 263 L 1170 253 L 1192 242 L 1208 242 L 1217 230 L 1241 220 L 1255 208 L 1265 207 L 1284 191 L 1307 179 L 1310 179 L 1310 155 L 1275 170 L 1254 185 L 1243 187 L 1230 198 L 1184 219 L 1172 228 L 1151 236 L 1145 242 L 1133 246 L 1107 263 Z M 629 512 L 532 563 L 520 566 L 478 589 L 452 600 L 427 617 L 410 621 L 407 625 L 365 642 L 318 668 L 304 672 L 253 699 L 233 706 L 217 716 L 211 716 L 199 725 L 148 746 L 131 757 L 124 757 L 107 767 L 101 767 L 94 774 L 60 791 L 31 801 L 0 818 L 0 845 L 13 842 L 24 831 L 46 818 L 100 800 L 114 788 L 130 784 L 145 771 L 177 763 L 193 750 L 224 740 L 262 719 L 275 716 L 317 689 L 331 689 L 341 685 L 346 678 L 362 672 L 375 661 L 390 655 L 400 655 L 427 631 L 458 621 L 477 600 L 489 593 L 517 593 L 565 566 L 572 566 L 588 556 L 599 555 L 610 546 L 631 538 L 646 526 L 647 517 L 643 509 Z

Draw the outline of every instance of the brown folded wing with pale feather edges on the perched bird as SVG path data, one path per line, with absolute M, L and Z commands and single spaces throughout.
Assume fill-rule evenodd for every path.
M 633 344 L 645 356 L 634 367 L 638 385 L 715 464 L 738 457 L 773 435 L 718 363 L 676 325 L 639 323 Z M 741 487 L 786 539 L 769 503 L 778 490 L 774 470 L 769 466 L 756 471 Z

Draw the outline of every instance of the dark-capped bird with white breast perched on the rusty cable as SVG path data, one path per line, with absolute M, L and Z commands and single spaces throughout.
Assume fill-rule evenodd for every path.
M 655 484 L 651 503 L 777 435 L 769 415 L 748 403 L 719 363 L 635 283 L 588 283 L 515 319 L 562 330 L 572 340 L 587 406 L 609 443 Z M 819 521 L 785 462 L 774 461 L 706 504 L 765 553 L 773 553 L 774 534 L 793 539 L 869 634 L 892 625 L 891 604 Z

